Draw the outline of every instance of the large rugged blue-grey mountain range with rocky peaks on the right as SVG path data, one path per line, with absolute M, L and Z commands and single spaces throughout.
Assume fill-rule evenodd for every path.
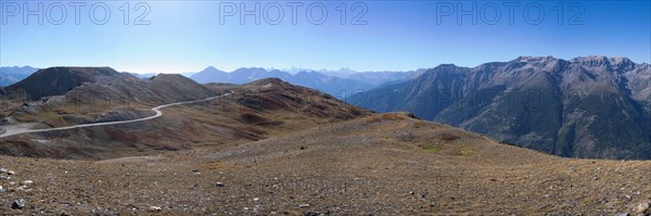
M 350 100 L 561 156 L 651 158 L 651 66 L 626 58 L 444 64 Z

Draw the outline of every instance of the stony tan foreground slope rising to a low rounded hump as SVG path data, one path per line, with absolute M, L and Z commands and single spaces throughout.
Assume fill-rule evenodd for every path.
M 0 157 L 0 215 L 650 215 L 651 162 L 373 114 L 104 161 Z

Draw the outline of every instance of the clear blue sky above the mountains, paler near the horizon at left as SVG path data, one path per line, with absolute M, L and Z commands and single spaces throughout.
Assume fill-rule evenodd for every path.
M 411 71 L 521 55 L 651 62 L 648 0 L 75 2 L 1 0 L 0 65 L 182 73 L 208 65 Z M 255 14 L 256 3 L 260 23 L 244 15 L 242 24 L 242 11 Z

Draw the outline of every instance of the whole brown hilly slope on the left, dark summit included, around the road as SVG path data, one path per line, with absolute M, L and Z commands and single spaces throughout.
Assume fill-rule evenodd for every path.
M 271 132 L 370 113 L 278 78 L 246 85 L 201 85 L 178 74 L 141 79 L 111 67 L 49 67 L 1 89 L 0 135 L 138 119 L 154 115 L 151 107 L 217 96 L 225 97 L 186 105 L 155 120 L 3 137 L 0 153 L 117 157 L 190 149 L 202 142 L 257 140 Z M 192 117 L 184 117 L 188 115 Z

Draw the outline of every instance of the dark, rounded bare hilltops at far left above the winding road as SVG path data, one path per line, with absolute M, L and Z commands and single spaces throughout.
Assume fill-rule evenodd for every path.
M 143 80 L 111 67 L 39 69 L 27 78 L 1 89 L 0 93 L 9 99 L 23 97 L 31 101 L 47 101 L 53 96 L 64 96 L 67 99 L 148 103 L 196 100 L 216 94 L 208 87 L 182 75 L 161 74 Z

